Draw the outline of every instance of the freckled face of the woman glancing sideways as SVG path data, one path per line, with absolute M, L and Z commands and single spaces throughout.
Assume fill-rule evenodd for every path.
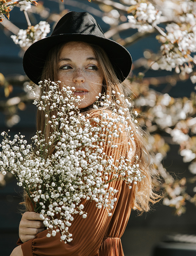
M 75 87 L 74 95 L 80 96 L 78 107 L 85 108 L 96 101 L 102 92 L 103 76 L 92 48 L 84 42 L 66 43 L 59 56 L 57 79 Z M 60 86 L 63 87 L 63 84 Z

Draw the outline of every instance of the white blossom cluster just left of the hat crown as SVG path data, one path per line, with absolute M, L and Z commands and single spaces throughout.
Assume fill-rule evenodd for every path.
M 36 41 L 46 37 L 50 32 L 50 25 L 46 21 L 40 21 L 36 26 L 28 27 L 28 29 L 20 29 L 17 35 L 11 35 L 15 44 L 19 44 L 21 48 L 27 49 Z

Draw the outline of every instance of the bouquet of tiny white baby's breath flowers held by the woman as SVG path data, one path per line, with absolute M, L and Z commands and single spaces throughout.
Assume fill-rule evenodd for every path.
M 134 140 L 127 121 L 132 118 L 128 100 L 124 107 L 119 99 L 113 103 L 109 95 L 99 95 L 91 115 L 79 111 L 81 99 L 74 96 L 74 87 L 59 90 L 59 83 L 45 80 L 39 84 L 43 94 L 34 104 L 44 113 L 45 127 L 32 137 L 32 144 L 21 134 L 11 140 L 6 132 L 1 133 L 4 139 L 0 144 L 0 171 L 4 175 L 10 172 L 18 179 L 35 212 L 41 214 L 47 237 L 60 232 L 60 239 L 67 243 L 72 241 L 69 227 L 74 215 L 88 216 L 82 200 L 94 201 L 96 207 L 106 208 L 111 216 L 118 193 L 112 182 L 123 180 L 131 188 L 143 175 L 138 156 L 128 157 Z M 33 92 L 32 87 L 28 89 Z M 112 94 L 114 97 L 115 92 Z M 120 138 L 126 134 L 132 139 L 124 156 L 119 147 Z

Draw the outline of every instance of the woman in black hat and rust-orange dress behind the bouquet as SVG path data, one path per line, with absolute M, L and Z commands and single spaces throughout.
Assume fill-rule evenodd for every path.
M 75 87 L 74 95 L 82 101 L 78 106 L 81 111 L 90 113 L 99 93 L 117 92 L 125 94 L 126 86 L 122 83 L 131 69 L 131 56 L 125 48 L 116 42 L 106 39 L 99 25 L 87 12 L 69 12 L 57 23 L 51 36 L 34 43 L 24 54 L 24 71 L 38 84 L 40 80 L 60 80 L 62 84 Z M 60 87 L 62 86 L 60 84 Z M 111 100 L 112 97 L 111 97 Z M 98 110 L 99 111 L 99 110 Z M 42 130 L 45 117 L 41 111 L 37 115 L 37 130 Z M 136 126 L 131 123 L 132 129 Z M 46 131 L 46 134 L 49 131 Z M 124 157 L 139 156 L 140 168 L 146 178 L 129 189 L 123 181 L 113 181 L 112 186 L 118 190 L 117 201 L 112 209 L 112 216 L 103 207 L 98 209 L 94 202 L 84 201 L 86 219 L 74 218 L 70 227 L 73 241 L 64 244 L 58 236 L 47 238 L 47 230 L 38 213 L 32 212 L 31 204 L 26 198 L 26 210 L 23 215 L 18 241 L 11 256 L 53 255 L 53 256 L 123 256 L 120 237 L 128 222 L 132 208 L 140 211 L 149 210 L 149 202 L 155 203 L 158 196 L 153 192 L 149 155 L 140 133 L 135 139 L 122 133 L 119 136 L 118 152 Z M 131 155 L 130 141 L 132 147 Z M 109 149 L 105 148 L 109 155 Z M 129 152 L 130 153 L 130 152 Z M 49 152 L 52 154 L 52 152 Z

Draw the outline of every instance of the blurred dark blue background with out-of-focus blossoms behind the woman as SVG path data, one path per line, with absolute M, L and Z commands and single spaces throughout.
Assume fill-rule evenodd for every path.
M 52 31 L 66 12 L 88 11 L 106 32 L 106 37 L 118 41 L 131 53 L 133 69 L 127 82 L 132 84 L 130 94 L 140 114 L 140 123 L 144 130 L 149 131 L 149 147 L 155 153 L 155 168 L 163 181 L 162 185 L 157 184 L 157 188 L 163 191 L 165 199 L 142 216 L 132 211 L 122 237 L 125 256 L 153 256 L 154 247 L 174 233 L 196 235 L 196 97 L 193 84 L 196 73 L 195 63 L 191 61 L 194 53 L 189 52 L 190 58 L 185 63 L 173 66 L 168 62 L 170 70 L 164 68 L 159 60 L 166 53 L 160 51 L 160 45 L 164 45 L 166 40 L 163 42 L 157 37 L 162 35 L 166 38 L 169 34 L 166 26 L 172 22 L 179 24 L 176 17 L 184 17 L 186 12 L 175 12 L 174 4 L 179 5 L 183 1 L 167 1 L 173 10 L 168 14 L 170 17 L 165 13 L 164 1 L 143 2 L 147 5 L 153 3 L 156 15 L 162 11 L 160 17 L 156 17 L 159 22 L 153 24 L 144 18 L 143 23 L 140 22 L 137 11 L 141 1 L 95 0 L 90 3 L 88 0 L 64 0 L 62 3 L 44 0 L 38 1 L 38 6 L 31 5 L 31 9 L 26 11 L 21 11 L 19 5 L 15 6 L 10 12 L 10 19 L 5 17 L 0 23 L 0 132 L 10 129 L 11 137 L 21 132 L 28 141 L 35 133 L 36 108 L 32 104 L 32 96 L 25 89 L 31 83 L 22 67 L 22 56 L 27 46 L 16 45 L 11 35 L 17 35 L 19 29 L 26 30 L 27 23 L 31 31 L 31 26 L 41 20 L 47 21 Z M 195 15 L 195 5 L 190 6 Z M 147 14 L 154 13 L 152 10 Z M 128 15 L 135 17 L 138 26 L 148 23 L 152 29 L 139 31 L 129 22 Z M 157 24 L 160 24 L 159 28 Z M 176 47 L 180 49 L 178 45 Z M 11 175 L 1 175 L 0 183 L 0 254 L 8 256 L 18 240 L 22 209 L 19 203 L 23 201 L 23 193 Z

